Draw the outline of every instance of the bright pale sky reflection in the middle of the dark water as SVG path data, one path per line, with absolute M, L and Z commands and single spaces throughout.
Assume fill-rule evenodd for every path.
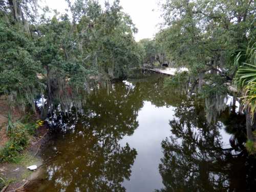
M 147 192 L 163 187 L 158 165 L 160 163 L 161 141 L 169 135 L 169 118 L 174 115 L 174 108 L 157 107 L 150 101 L 145 101 L 138 113 L 139 127 L 132 136 L 125 136 L 120 140 L 136 148 L 138 155 L 132 166 L 129 181 L 124 181 L 126 191 Z M 143 187 L 142 187 L 143 186 Z

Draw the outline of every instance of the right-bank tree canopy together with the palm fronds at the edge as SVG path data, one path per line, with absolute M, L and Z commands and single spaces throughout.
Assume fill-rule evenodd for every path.
M 169 59 L 177 67 L 188 68 L 189 73 L 182 79 L 191 83 L 191 93 L 198 88 L 206 98 L 207 111 L 220 110 L 219 101 L 227 93 L 247 93 L 241 105 L 241 109 L 251 112 L 246 112 L 247 132 L 253 129 L 249 119 L 255 113 L 255 8 L 252 0 L 166 0 L 162 5 L 164 22 L 156 35 Z M 251 52 L 244 54 L 246 49 Z M 238 83 L 244 81 L 246 89 Z M 219 109 L 207 104 L 209 100 L 216 100 Z

